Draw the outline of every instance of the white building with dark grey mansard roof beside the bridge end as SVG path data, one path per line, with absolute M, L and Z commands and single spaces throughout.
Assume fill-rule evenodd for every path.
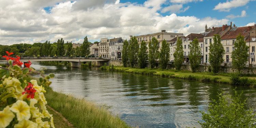
M 113 60 L 120 60 L 122 58 L 122 48 L 124 40 L 122 37 L 110 39 L 109 43 L 109 57 Z

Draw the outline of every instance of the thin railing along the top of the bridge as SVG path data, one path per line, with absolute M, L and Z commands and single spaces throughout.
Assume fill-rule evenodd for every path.
M 3 57 L 0 57 L 0 59 L 5 59 Z M 68 56 L 61 56 L 61 57 L 51 57 L 51 56 L 47 56 L 47 57 L 20 57 L 20 59 L 104 59 L 104 60 L 110 60 L 111 58 L 105 58 L 105 57 L 68 57 Z

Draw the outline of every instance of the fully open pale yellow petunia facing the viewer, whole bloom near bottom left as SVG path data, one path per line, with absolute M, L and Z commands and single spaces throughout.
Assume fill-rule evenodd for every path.
M 25 101 L 16 101 L 10 110 L 16 113 L 18 121 L 23 119 L 28 120 L 30 118 L 29 105 Z

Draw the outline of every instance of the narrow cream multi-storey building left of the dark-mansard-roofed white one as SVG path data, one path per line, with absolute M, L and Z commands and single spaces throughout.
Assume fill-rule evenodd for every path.
M 109 58 L 109 39 L 108 38 L 100 39 L 99 57 Z

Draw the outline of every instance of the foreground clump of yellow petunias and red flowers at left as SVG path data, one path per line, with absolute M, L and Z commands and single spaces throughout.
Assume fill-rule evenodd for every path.
M 23 63 L 19 61 L 20 58 L 13 58 L 10 56 L 13 53 L 6 53 L 8 56 L 4 57 L 10 66 L 0 67 L 0 127 L 54 127 L 53 117 L 46 109 L 46 91 L 43 87 L 51 84 L 49 79 L 54 75 L 45 76 L 43 71 L 35 71 L 30 67 L 30 61 L 25 63 L 26 68 L 21 69 Z M 39 84 L 31 80 L 31 73 L 41 74 Z

